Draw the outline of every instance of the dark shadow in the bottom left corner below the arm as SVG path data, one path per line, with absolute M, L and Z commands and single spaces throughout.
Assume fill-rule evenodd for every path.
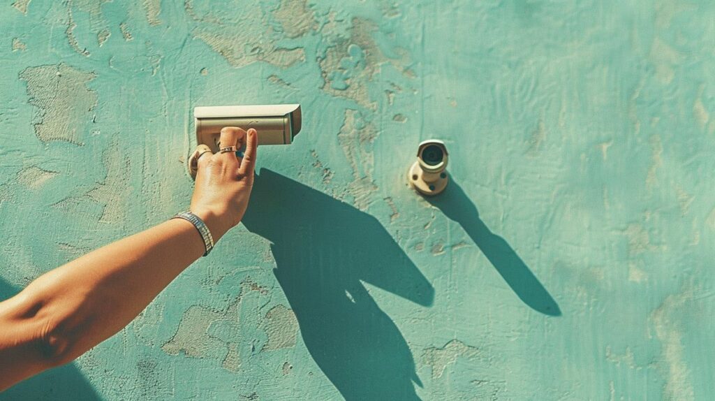
M 0 279 L 0 301 L 19 292 Z M 6 363 L 6 361 L 0 361 Z M 55 367 L 0 392 L 0 400 L 102 400 L 74 364 Z

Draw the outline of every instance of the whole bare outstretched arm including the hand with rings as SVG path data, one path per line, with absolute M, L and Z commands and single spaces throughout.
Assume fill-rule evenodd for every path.
M 199 158 L 190 209 L 215 242 L 243 217 L 257 146 L 254 129 L 222 130 L 222 146 L 243 142 L 242 160 L 232 152 Z M 202 254 L 193 224 L 171 219 L 51 270 L 0 302 L 0 391 L 114 335 Z

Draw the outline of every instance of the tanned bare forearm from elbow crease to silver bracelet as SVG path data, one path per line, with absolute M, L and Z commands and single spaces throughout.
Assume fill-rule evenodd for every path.
M 41 335 L 67 362 L 121 330 L 202 254 L 197 229 L 171 219 L 64 264 L 23 293 L 41 305 Z

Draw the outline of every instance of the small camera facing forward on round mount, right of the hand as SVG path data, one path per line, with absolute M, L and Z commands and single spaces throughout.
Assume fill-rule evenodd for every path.
M 447 162 L 449 155 L 445 143 L 428 139 L 417 149 L 417 161 L 410 167 L 408 182 L 423 195 L 436 195 L 444 191 L 449 182 Z

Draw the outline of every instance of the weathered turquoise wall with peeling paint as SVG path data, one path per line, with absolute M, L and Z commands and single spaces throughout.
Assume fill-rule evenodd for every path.
M 194 106 L 305 111 L 211 257 L 4 397 L 715 394 L 711 1 L 1 7 L 2 297 L 186 207 Z

